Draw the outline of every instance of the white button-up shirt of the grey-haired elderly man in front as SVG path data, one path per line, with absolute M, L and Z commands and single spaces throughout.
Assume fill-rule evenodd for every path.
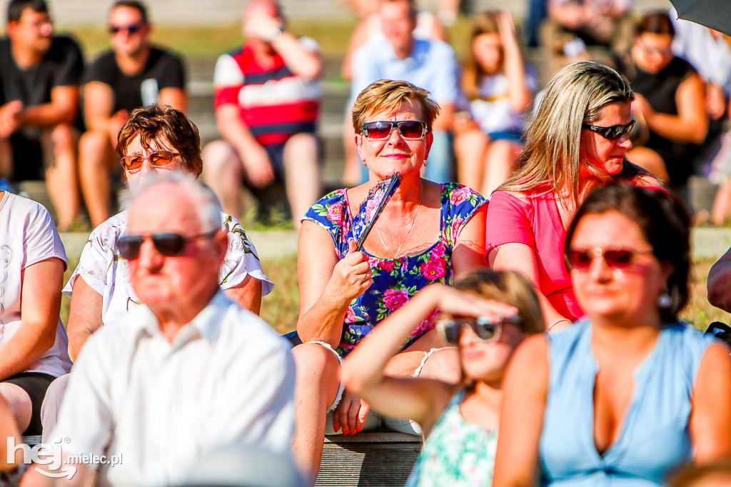
M 64 454 L 121 455 L 113 485 L 179 483 L 226 445 L 291 456 L 295 366 L 289 344 L 218 292 L 167 340 L 146 306 L 94 333 L 74 365 L 52 438 Z

